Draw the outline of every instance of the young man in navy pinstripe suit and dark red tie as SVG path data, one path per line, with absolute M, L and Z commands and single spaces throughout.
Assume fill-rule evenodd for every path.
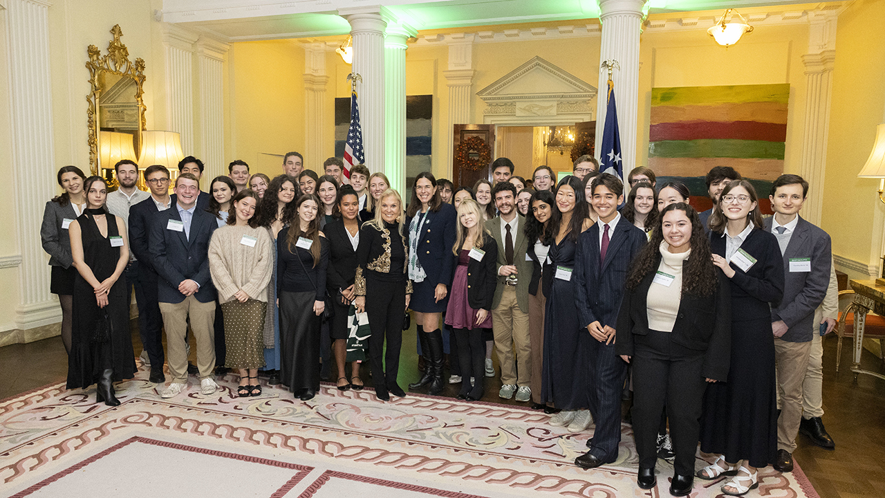
M 630 261 L 648 239 L 645 232 L 618 213 L 624 185 L 604 173 L 592 183 L 598 221 L 578 239 L 573 272 L 574 294 L 581 324 L 593 336 L 589 354 L 590 413 L 596 424 L 589 451 L 575 459 L 584 469 L 612 463 L 620 443 L 620 393 L 627 363 L 614 350 L 615 323 Z

